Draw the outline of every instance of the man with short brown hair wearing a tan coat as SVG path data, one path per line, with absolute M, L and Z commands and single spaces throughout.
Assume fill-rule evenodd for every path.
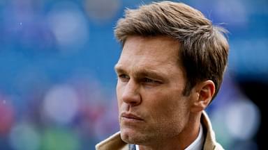
M 114 32 L 120 132 L 96 149 L 223 149 L 204 113 L 228 60 L 223 28 L 163 1 L 126 10 Z

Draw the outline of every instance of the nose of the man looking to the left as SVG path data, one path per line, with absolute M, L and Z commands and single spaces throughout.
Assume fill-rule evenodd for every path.
M 141 103 L 139 85 L 135 81 L 130 80 L 123 88 L 122 101 L 128 103 L 129 106 L 137 106 Z

